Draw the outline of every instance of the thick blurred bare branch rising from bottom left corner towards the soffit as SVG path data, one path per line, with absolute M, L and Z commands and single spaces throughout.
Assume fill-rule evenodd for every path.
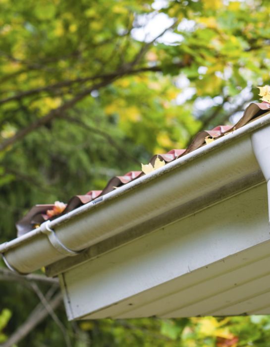
M 62 302 L 62 295 L 58 292 L 52 300 L 49 301 L 52 309 L 56 309 Z M 39 303 L 26 321 L 4 342 L 1 347 L 12 347 L 17 344 L 23 338 L 25 338 L 38 324 L 40 324 L 47 316 L 49 312 L 47 308 Z

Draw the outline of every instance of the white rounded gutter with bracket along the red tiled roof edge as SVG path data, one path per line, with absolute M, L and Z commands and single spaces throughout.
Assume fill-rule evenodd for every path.
M 259 166 L 255 155 L 259 153 L 258 142 L 263 149 L 270 143 L 268 124 L 270 114 L 117 188 L 102 201 L 97 199 L 1 244 L 0 253 L 14 270 L 23 274 L 33 272 L 194 199 L 201 199 L 204 207 L 209 206 L 213 202 L 207 200 L 208 194 L 220 192 L 224 185 L 247 177 L 257 177 L 249 181 L 250 186 L 258 184 L 256 173 L 261 171 L 265 159 L 258 159 Z M 265 136 L 261 141 L 262 131 Z M 266 170 L 262 169 L 269 181 Z

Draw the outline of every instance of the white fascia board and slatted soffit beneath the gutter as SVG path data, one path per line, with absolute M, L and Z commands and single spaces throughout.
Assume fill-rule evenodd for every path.
M 269 258 L 264 183 L 67 270 L 68 318 L 261 313 Z

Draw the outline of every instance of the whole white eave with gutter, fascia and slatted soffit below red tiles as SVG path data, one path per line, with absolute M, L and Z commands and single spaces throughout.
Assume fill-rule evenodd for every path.
M 270 313 L 269 156 L 266 114 L 0 252 L 58 275 L 70 320 Z

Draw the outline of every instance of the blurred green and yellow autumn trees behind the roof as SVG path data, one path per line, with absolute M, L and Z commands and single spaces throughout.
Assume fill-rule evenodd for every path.
M 0 242 L 235 122 L 270 83 L 269 20 L 267 0 L 0 0 Z M 0 270 L 1 346 L 269 346 L 268 316 L 68 323 L 57 283 Z

